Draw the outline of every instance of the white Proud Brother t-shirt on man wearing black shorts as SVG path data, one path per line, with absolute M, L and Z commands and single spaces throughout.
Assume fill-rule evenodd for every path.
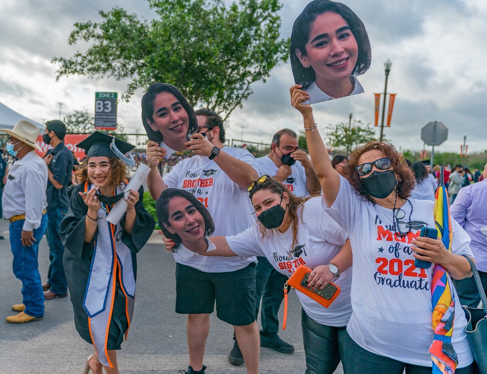
M 221 152 L 246 162 L 258 170 L 254 156 L 247 149 L 224 146 Z M 218 157 L 218 156 L 217 156 Z M 168 187 L 191 192 L 210 211 L 216 236 L 235 235 L 255 222 L 254 208 L 246 190 L 239 188 L 216 164 L 205 156 L 184 159 L 163 177 Z M 256 261 L 255 257 L 193 256 L 184 265 L 206 273 L 233 272 Z M 182 261 L 178 261 L 183 264 Z

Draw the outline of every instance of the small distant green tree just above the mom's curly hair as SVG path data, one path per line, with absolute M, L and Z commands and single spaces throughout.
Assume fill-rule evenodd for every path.
M 362 121 L 354 120 L 352 126 L 343 122 L 327 126 L 327 136 L 335 149 L 346 149 L 350 153 L 354 148 L 376 139 L 375 131 L 370 123 L 363 124 Z M 387 141 L 387 140 L 386 140 Z

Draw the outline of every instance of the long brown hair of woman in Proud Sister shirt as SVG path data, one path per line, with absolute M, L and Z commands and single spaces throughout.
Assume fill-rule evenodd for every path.
M 259 177 L 259 179 L 260 179 L 260 177 Z M 289 191 L 286 188 L 285 185 L 277 182 L 274 178 L 270 177 L 269 175 L 267 175 L 267 179 L 264 180 L 262 183 L 258 183 L 258 182 L 255 183 L 253 189 L 249 193 L 249 198 L 251 201 L 252 201 L 252 197 L 254 196 L 254 194 L 260 190 L 269 190 L 271 193 L 281 196 L 281 198 L 283 197 L 284 193 L 288 194 L 289 204 L 287 205 L 287 209 L 288 209 L 289 216 L 292 219 L 291 228 L 293 231 L 293 241 L 291 242 L 291 246 L 289 247 L 289 254 L 292 254 L 293 248 L 298 244 L 298 239 L 297 239 L 298 228 L 303 223 L 303 210 L 304 209 L 301 209 L 301 213 L 299 214 L 299 217 L 298 217 L 298 208 L 301 205 L 303 205 L 305 201 L 309 200 L 311 197 L 314 197 L 314 196 L 310 196 L 308 198 L 297 197 L 297 196 L 293 195 L 291 193 L 291 191 Z M 269 230 L 266 229 L 260 223 L 259 220 L 258 220 L 258 222 L 259 222 L 259 229 L 260 229 L 260 234 L 261 234 L 262 238 L 264 238 L 264 236 L 269 236 L 269 234 L 268 234 Z M 273 229 L 273 230 L 277 230 L 277 229 Z

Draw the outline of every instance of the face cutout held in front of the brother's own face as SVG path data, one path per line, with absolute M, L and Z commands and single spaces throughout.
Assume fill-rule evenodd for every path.
M 167 156 L 184 151 L 187 137 L 198 131 L 193 107 L 166 83 L 152 84 L 142 97 L 142 124 L 149 140 L 165 148 Z

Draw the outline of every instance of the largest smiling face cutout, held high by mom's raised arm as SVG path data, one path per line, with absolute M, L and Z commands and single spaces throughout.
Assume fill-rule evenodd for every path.
M 364 92 L 357 76 L 370 66 L 369 38 L 344 4 L 309 3 L 294 21 L 289 55 L 294 82 L 310 96 L 307 104 Z

